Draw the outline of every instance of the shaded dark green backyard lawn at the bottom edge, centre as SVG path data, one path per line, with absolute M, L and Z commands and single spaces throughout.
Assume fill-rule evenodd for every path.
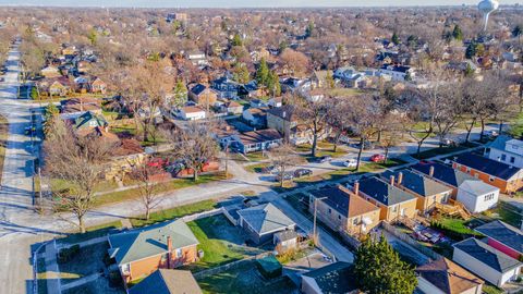
M 264 281 L 254 262 L 207 277 L 198 284 L 206 294 L 287 294 L 297 291 L 289 278 Z

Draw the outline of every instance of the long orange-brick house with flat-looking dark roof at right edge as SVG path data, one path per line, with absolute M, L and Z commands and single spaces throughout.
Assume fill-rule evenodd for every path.
M 513 193 L 523 187 L 522 169 L 472 152 L 455 156 L 452 168 L 498 187 L 501 193 Z

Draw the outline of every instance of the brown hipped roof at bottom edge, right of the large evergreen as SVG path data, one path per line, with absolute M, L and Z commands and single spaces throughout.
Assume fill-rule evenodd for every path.
M 484 283 L 482 279 L 445 257 L 417 267 L 416 272 L 448 294 L 459 294 Z

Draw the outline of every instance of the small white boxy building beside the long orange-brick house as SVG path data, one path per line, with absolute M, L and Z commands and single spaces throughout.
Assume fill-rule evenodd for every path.
M 499 188 L 482 181 L 466 180 L 458 187 L 457 200 L 472 213 L 477 213 L 496 207 L 498 197 Z

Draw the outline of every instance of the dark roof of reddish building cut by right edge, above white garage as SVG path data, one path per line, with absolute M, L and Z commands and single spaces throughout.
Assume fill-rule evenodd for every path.
M 476 231 L 523 254 L 523 231 L 496 220 L 476 228 Z

